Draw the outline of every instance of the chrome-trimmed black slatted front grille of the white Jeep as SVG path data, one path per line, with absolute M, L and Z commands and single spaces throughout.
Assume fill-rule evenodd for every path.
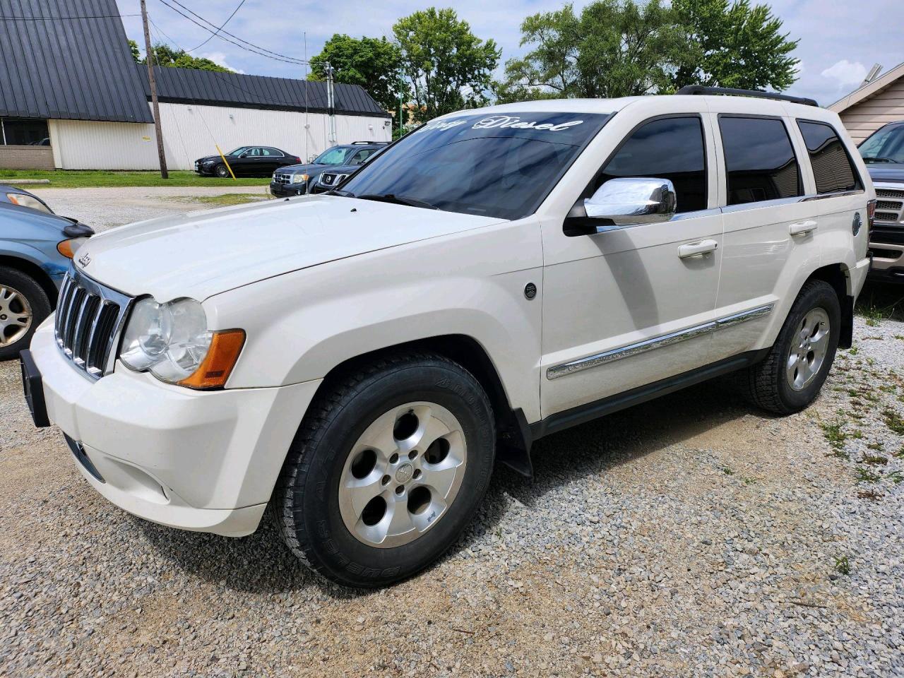
M 78 270 L 63 279 L 53 334 L 63 355 L 92 379 L 112 369 L 130 301 Z

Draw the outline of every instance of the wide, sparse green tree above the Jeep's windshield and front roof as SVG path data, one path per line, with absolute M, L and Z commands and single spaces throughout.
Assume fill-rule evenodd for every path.
M 596 0 L 532 14 L 521 26 L 522 59 L 505 65 L 500 100 L 629 97 L 671 91 L 695 57 L 687 29 L 663 0 Z

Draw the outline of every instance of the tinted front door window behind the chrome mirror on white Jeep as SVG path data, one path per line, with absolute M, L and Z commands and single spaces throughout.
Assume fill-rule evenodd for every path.
M 598 174 L 593 188 L 609 179 L 635 176 L 670 179 L 677 212 L 705 210 L 706 151 L 700 118 L 662 118 L 636 129 Z

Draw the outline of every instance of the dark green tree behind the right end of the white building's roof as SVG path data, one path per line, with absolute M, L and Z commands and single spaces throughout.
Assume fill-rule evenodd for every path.
M 361 85 L 386 110 L 399 108 L 399 46 L 386 38 L 357 40 L 336 33 L 322 52 L 311 58 L 308 80 L 326 80 L 326 64 L 334 70 L 336 82 Z M 407 92 L 405 92 L 407 99 Z

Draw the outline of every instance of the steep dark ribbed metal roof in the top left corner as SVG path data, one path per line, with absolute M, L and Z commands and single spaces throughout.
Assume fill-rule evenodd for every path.
M 0 116 L 153 121 L 116 0 L 3 0 L 0 17 Z

